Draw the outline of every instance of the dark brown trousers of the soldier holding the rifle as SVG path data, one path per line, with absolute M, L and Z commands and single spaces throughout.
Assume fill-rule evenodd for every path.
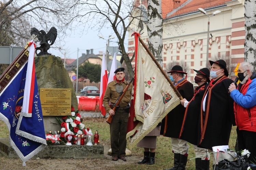
M 110 145 L 112 156 L 125 156 L 128 116 L 125 110 L 116 109 L 110 124 Z

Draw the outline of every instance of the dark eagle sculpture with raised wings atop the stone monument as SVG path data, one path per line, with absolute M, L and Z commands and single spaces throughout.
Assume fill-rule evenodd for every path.
M 51 55 L 47 52 L 49 50 L 50 46 L 53 45 L 56 37 L 57 37 L 57 29 L 55 27 L 52 27 L 48 33 L 44 30 L 38 31 L 36 28 L 31 28 L 30 34 L 37 35 L 38 40 L 40 41 L 40 47 L 35 48 L 35 53 L 37 56 L 40 55 Z M 50 41 L 51 44 L 48 44 L 48 41 Z M 37 53 L 37 50 L 40 50 L 40 53 Z

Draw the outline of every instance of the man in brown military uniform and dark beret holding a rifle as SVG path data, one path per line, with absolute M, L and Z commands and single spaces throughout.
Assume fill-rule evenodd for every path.
M 129 109 L 127 109 L 127 107 L 129 107 L 129 102 L 131 100 L 132 84 L 130 84 L 129 88 L 125 92 L 125 95 L 121 99 L 118 107 L 113 111 L 113 104 L 116 102 L 123 89 L 129 84 L 125 80 L 124 68 L 118 68 L 114 73 L 116 79 L 108 84 L 103 98 L 103 105 L 106 112 L 113 115 L 113 119 L 110 124 L 112 160 L 116 161 L 119 158 L 126 161 L 126 130 L 129 116 Z

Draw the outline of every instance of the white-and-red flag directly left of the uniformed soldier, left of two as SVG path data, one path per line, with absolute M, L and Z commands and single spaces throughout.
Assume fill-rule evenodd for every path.
M 102 64 L 101 64 L 101 74 L 100 74 L 100 111 L 103 116 L 106 115 L 106 111 L 103 106 L 103 97 L 105 95 L 107 85 L 108 85 L 108 71 L 106 67 L 105 53 L 103 53 Z

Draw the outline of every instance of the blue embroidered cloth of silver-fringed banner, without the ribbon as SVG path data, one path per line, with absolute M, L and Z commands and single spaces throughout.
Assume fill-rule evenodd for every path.
M 34 43 L 32 42 L 32 44 Z M 34 53 L 34 47 L 32 50 L 30 49 L 30 53 Z M 33 91 L 25 91 L 29 95 L 32 93 L 30 96 L 33 97 L 33 102 L 30 102 L 32 106 L 31 117 L 21 115 L 28 67 L 28 62 L 20 66 L 18 72 L 0 93 L 0 102 L 2 103 L 0 118 L 7 125 L 11 146 L 23 160 L 24 166 L 27 160 L 46 146 L 42 108 L 35 74 L 32 74 Z

